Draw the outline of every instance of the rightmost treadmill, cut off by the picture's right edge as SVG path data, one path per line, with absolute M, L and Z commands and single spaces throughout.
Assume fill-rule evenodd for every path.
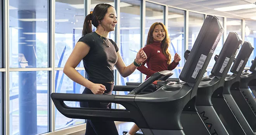
M 242 111 L 247 122 L 254 132 L 256 132 L 256 100 L 255 84 L 256 84 L 256 57 L 252 61 L 251 68 L 245 68 L 241 75 L 240 84 L 230 88 L 231 94 Z M 251 71 L 248 73 L 247 71 Z M 253 94 L 254 93 L 254 94 Z

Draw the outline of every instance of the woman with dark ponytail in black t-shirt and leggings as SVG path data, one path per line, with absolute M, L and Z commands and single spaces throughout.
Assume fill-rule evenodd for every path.
M 95 32 L 92 32 L 92 24 L 97 28 Z M 114 88 L 114 66 L 121 76 L 127 77 L 147 59 L 141 48 L 134 62 L 125 65 L 118 46 L 107 38 L 109 32 L 115 30 L 116 24 L 116 10 L 106 3 L 96 5 L 93 12 L 85 17 L 83 36 L 76 43 L 63 69 L 70 79 L 85 86 L 83 94 L 111 95 Z M 88 79 L 75 69 L 81 60 Z M 80 107 L 111 108 L 111 103 L 80 102 Z M 86 121 L 85 135 L 118 135 L 118 131 L 113 121 L 94 119 Z

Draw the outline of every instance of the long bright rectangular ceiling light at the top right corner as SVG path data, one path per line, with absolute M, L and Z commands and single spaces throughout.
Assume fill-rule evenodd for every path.
M 230 6 L 230 7 L 214 8 L 214 10 L 226 12 L 226 11 L 234 11 L 234 10 L 249 9 L 249 8 L 256 8 L 256 5 L 255 4 L 236 5 L 236 6 Z

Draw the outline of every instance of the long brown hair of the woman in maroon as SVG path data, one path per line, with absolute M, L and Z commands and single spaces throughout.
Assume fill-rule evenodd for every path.
M 154 32 L 154 29 L 156 27 L 156 25 L 161 25 L 164 29 L 164 32 L 165 32 L 165 37 L 164 39 L 162 40 L 161 42 L 161 49 L 163 51 L 163 54 L 164 56 L 166 56 L 168 58 L 168 64 L 170 64 L 171 62 L 171 54 L 170 54 L 170 51 L 168 50 L 169 48 L 169 44 L 171 42 L 169 36 L 168 36 L 168 31 L 166 30 L 166 27 L 164 26 L 163 23 L 161 22 L 155 22 L 154 24 L 152 24 L 150 26 L 150 29 L 149 29 L 149 33 L 147 34 L 147 44 L 152 44 L 154 42 L 153 40 L 153 32 Z

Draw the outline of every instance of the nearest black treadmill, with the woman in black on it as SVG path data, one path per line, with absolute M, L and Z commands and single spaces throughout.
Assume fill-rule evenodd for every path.
M 184 108 L 195 109 L 195 106 L 190 103 L 195 100 L 197 87 L 223 30 L 217 17 L 207 15 L 189 54 L 188 61 L 180 74 L 180 79 L 183 82 L 167 81 L 166 79 L 173 72 L 161 71 L 154 73 L 128 95 L 52 93 L 51 98 L 60 113 L 68 118 L 134 122 L 141 128 L 144 135 L 185 135 L 180 122 L 180 115 Z M 159 86 L 156 91 L 138 95 L 156 80 Z M 67 106 L 64 101 L 118 103 L 126 109 L 77 108 Z M 201 135 L 210 135 L 203 124 L 201 127 L 205 129 Z

